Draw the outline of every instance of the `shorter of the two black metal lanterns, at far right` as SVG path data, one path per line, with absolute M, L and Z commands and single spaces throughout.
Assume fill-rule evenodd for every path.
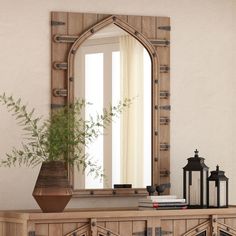
M 228 207 L 228 178 L 218 165 L 207 179 L 207 207 Z

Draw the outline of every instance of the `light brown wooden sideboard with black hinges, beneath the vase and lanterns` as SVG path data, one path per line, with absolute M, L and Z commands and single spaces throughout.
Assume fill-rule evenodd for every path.
M 0 213 L 0 236 L 236 235 L 236 208 Z

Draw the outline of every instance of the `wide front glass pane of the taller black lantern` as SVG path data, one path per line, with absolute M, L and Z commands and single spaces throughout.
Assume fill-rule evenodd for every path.
M 189 204 L 200 205 L 200 172 L 191 171 L 189 180 Z M 191 181 L 192 180 L 192 181 Z

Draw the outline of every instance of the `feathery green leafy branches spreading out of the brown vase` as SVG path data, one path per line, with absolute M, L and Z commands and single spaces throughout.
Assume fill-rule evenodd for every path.
M 83 99 L 77 99 L 73 105 L 57 109 L 51 117 L 43 119 L 35 115 L 35 110 L 28 110 L 21 99 L 0 95 L 0 103 L 15 117 L 24 130 L 22 148 L 13 148 L 6 154 L 6 159 L 0 160 L 2 166 L 19 165 L 36 166 L 47 161 L 65 161 L 77 165 L 83 170 L 89 166 L 95 175 L 101 172 L 97 163 L 91 162 L 84 154 L 84 147 L 102 135 L 104 127 L 108 126 L 114 117 L 131 103 L 130 99 L 119 102 L 117 106 L 103 109 L 103 114 L 96 117 L 83 118 L 85 106 L 90 106 Z

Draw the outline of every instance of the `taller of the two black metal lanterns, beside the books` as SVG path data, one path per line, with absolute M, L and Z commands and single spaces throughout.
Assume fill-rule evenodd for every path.
M 183 195 L 189 208 L 207 207 L 208 169 L 204 158 L 198 156 L 198 150 L 183 168 Z

